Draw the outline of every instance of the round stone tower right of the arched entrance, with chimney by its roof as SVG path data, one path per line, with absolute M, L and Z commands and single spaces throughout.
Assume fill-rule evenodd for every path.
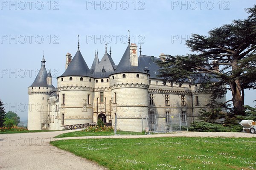
M 149 74 L 138 66 L 136 44 L 128 45 L 116 73 L 109 78 L 117 128 L 142 132 L 142 117 L 148 115 Z

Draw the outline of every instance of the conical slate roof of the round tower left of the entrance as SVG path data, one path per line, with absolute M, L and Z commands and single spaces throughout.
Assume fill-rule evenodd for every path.
M 85 76 L 85 77 L 92 77 L 90 69 L 88 68 L 84 58 L 78 48 L 74 58 L 71 60 L 70 65 L 68 65 L 65 72 L 59 76 Z M 58 77 L 57 77 L 58 78 Z

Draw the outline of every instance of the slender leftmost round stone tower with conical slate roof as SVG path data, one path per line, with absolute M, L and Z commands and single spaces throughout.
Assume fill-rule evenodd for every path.
M 48 78 L 49 79 L 49 78 Z M 35 81 L 28 87 L 29 111 L 28 111 L 28 130 L 48 129 L 48 99 L 52 92 L 52 82 L 48 80 L 45 68 L 45 59 L 41 61 L 41 69 Z

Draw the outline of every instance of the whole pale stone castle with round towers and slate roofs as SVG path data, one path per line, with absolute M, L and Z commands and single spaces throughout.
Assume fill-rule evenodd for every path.
M 120 130 L 141 132 L 145 129 L 143 117 L 147 117 L 149 124 L 159 125 L 177 114 L 182 123 L 196 120 L 211 94 L 199 92 L 197 85 L 189 82 L 163 85 L 163 79 L 157 77 L 160 68 L 156 61 L 165 55 L 143 55 L 140 48 L 138 57 L 137 45 L 128 42 L 118 65 L 106 45 L 101 61 L 98 52 L 95 53 L 90 69 L 78 43 L 73 59 L 70 53 L 66 54 L 66 70 L 57 77 L 56 88 L 43 57 L 38 76 L 28 88 L 29 103 L 35 106 L 28 112 L 28 129 L 62 130 L 64 125 L 96 123 L 102 119 L 112 125 L 117 121 Z

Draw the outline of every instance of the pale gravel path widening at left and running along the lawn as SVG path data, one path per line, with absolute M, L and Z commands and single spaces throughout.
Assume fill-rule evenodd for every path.
M 79 130 L 79 129 L 78 129 Z M 256 137 L 250 133 L 230 132 L 183 132 L 171 134 L 154 134 L 145 136 L 84 136 L 57 138 L 62 133 L 55 131 L 41 133 L 0 134 L 0 169 L 1 170 L 105 170 L 93 161 L 75 156 L 49 144 L 49 141 L 63 139 L 97 139 L 97 138 L 153 138 L 153 137 Z M 76 131 L 76 130 L 72 130 Z

